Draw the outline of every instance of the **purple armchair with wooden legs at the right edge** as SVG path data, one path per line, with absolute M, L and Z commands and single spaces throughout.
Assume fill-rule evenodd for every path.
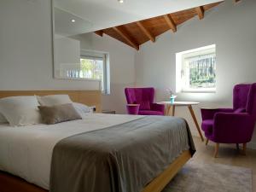
M 218 155 L 219 143 L 236 143 L 236 148 L 243 143 L 245 154 L 256 119 L 256 84 L 236 84 L 233 108 L 201 108 L 201 117 L 207 143 L 216 143 L 214 157 Z

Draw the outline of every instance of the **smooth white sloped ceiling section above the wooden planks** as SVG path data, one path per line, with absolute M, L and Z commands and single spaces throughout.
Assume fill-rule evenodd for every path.
M 221 0 L 124 0 L 125 3 L 119 3 L 118 0 L 53 1 L 55 8 L 90 24 L 84 29 L 85 33 L 191 9 L 202 4 L 217 3 Z M 63 17 L 61 23 L 70 21 L 66 19 Z

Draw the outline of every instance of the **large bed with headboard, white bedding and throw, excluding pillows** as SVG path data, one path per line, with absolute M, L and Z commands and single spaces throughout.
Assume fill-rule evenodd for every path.
M 101 110 L 99 91 L 0 91 L 0 98 L 64 93 Z M 94 113 L 56 125 L 0 125 L 0 191 L 160 192 L 194 153 L 189 127 L 178 118 Z M 93 176 L 85 188 L 84 172 Z

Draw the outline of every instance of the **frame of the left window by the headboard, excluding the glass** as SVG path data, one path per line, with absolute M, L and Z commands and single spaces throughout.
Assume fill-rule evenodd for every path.
M 80 59 L 102 60 L 103 61 L 103 79 L 90 79 L 90 78 L 84 78 L 84 79 L 100 81 L 100 89 L 102 89 L 102 94 L 109 95 L 110 94 L 110 77 L 109 77 L 109 67 L 108 67 L 109 66 L 109 61 L 108 61 L 109 54 L 102 53 L 102 52 L 96 52 L 96 51 L 81 50 Z

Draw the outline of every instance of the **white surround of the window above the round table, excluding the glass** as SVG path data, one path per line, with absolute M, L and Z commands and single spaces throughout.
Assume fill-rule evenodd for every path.
M 209 46 L 197 48 L 197 49 L 189 49 L 176 54 L 176 91 L 184 92 L 184 93 L 215 93 L 216 92 L 216 76 L 215 76 L 215 87 L 207 88 L 207 87 L 197 87 L 190 88 L 185 85 L 186 80 L 184 80 L 184 68 L 186 67 L 185 60 L 193 57 L 200 57 L 204 55 L 215 55 L 216 57 L 216 45 L 212 44 Z M 215 73 L 216 73 L 216 61 L 215 61 Z M 187 79 L 190 80 L 190 79 Z

